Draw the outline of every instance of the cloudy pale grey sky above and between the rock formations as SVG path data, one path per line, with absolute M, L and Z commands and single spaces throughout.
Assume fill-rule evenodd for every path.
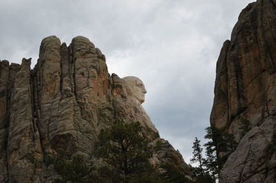
M 110 74 L 144 81 L 150 119 L 189 163 L 195 137 L 204 142 L 209 126 L 221 46 L 253 1 L 1 1 L 0 59 L 32 57 L 33 67 L 44 37 L 87 37 Z

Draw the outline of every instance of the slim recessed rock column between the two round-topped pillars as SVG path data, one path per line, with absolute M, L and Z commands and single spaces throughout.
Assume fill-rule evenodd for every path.
M 50 63 L 49 63 L 50 64 Z M 53 63 L 52 63 L 53 64 Z M 58 59 L 57 63 L 58 64 Z M 67 153 L 75 153 L 76 145 L 76 128 L 74 126 L 74 106 L 75 99 L 73 95 L 72 79 L 70 70 L 72 63 L 70 62 L 69 48 L 66 44 L 62 44 L 60 48 L 60 91 L 57 90 L 57 98 L 59 98 L 58 108 L 55 110 L 55 120 L 50 122 L 49 140 L 51 148 L 55 151 L 65 151 Z M 59 71 L 55 71 L 59 72 Z M 52 111 L 54 112 L 54 111 Z

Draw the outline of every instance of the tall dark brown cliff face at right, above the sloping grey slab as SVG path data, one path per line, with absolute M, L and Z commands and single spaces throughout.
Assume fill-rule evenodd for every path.
M 241 117 L 257 124 L 257 118 L 274 108 L 275 13 L 275 1 L 250 3 L 239 15 L 231 40 L 221 49 L 210 116 L 217 128 L 235 133 Z

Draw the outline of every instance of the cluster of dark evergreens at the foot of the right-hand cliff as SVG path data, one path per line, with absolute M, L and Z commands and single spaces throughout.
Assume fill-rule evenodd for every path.
M 251 128 L 252 124 L 248 119 L 239 119 L 239 136 L 241 138 Z M 195 137 L 195 142 L 193 142 L 193 157 L 190 162 L 196 163 L 197 166 L 192 166 L 192 171 L 196 183 L 215 183 L 219 181 L 219 171 L 238 144 L 233 133 L 228 133 L 214 126 L 206 128 L 204 138 L 208 140 L 204 144 L 205 156 L 203 155 L 203 148 L 201 148 L 201 141 Z

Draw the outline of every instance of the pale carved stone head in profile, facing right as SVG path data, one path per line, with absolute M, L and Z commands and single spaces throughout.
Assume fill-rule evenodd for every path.
M 145 94 L 147 93 L 143 81 L 133 76 L 124 77 L 123 80 L 126 82 L 128 95 L 142 104 L 145 101 Z

